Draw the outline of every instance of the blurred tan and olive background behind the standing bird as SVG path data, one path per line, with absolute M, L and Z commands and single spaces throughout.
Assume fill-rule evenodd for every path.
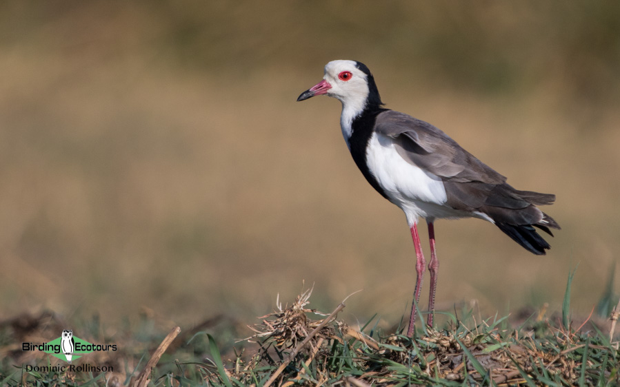
M 545 257 L 437 222 L 439 307 L 557 310 L 579 264 L 587 315 L 620 253 L 620 3 L 370 4 L 3 2 L 1 315 L 252 323 L 314 283 L 315 307 L 364 289 L 343 318 L 397 322 L 404 216 L 355 167 L 340 104 L 295 102 L 332 59 L 366 63 L 388 107 L 514 187 L 557 194 Z

